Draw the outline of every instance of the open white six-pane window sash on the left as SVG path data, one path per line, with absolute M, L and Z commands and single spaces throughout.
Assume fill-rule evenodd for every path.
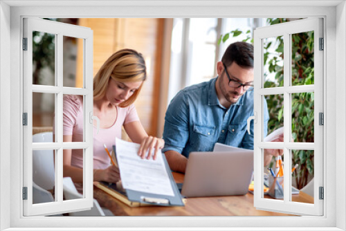
M 28 123 L 23 127 L 24 139 L 24 187 L 27 199 L 24 200 L 24 216 L 62 214 L 90 210 L 93 207 L 93 31 L 90 28 L 63 24 L 38 18 L 24 18 L 24 37 L 27 50 L 23 51 L 24 66 L 24 113 L 28 113 Z M 33 84 L 33 31 L 55 35 L 55 84 L 45 86 Z M 66 87 L 63 83 L 63 37 L 83 39 L 83 86 Z M 55 140 L 33 143 L 33 93 L 55 95 Z M 63 142 L 63 97 L 64 94 L 83 97 L 83 141 Z M 90 120 L 89 120 L 90 117 Z M 83 149 L 83 198 L 63 200 L 63 150 Z M 33 204 L 33 150 L 55 151 L 55 201 Z M 38 183 L 38 182 L 36 182 Z

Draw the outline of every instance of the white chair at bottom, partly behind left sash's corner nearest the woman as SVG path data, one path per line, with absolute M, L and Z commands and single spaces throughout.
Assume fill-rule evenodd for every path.
M 64 177 L 63 184 L 65 200 L 83 198 L 83 195 L 76 190 L 71 177 Z M 100 204 L 95 199 L 93 199 L 93 207 L 91 207 L 91 210 L 70 212 L 69 214 L 70 216 L 105 216 L 102 208 L 100 207 Z

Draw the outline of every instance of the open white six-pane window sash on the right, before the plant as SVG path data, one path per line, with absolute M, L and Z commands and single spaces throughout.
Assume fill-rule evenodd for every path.
M 319 49 L 319 38 L 322 38 L 322 19 L 310 18 L 265 26 L 257 28 L 254 36 L 254 59 L 255 62 L 255 91 L 254 91 L 254 112 L 257 115 L 255 123 L 254 138 L 254 175 L 255 175 L 255 194 L 254 205 L 257 209 L 284 211 L 291 214 L 309 214 L 320 216 L 323 214 L 323 201 L 319 199 L 318 190 L 323 186 L 323 128 L 319 125 L 318 114 L 323 113 L 323 51 Z M 296 33 L 314 32 L 314 84 L 304 86 L 292 86 L 291 63 L 292 63 L 292 37 Z M 284 38 L 284 86 L 264 88 L 264 39 L 271 37 Z M 292 93 L 313 92 L 314 101 L 314 137 L 315 142 L 291 142 L 292 127 Z M 284 95 L 284 142 L 264 142 L 264 95 Z M 283 149 L 284 150 L 284 200 L 273 200 L 263 196 L 263 173 L 264 173 L 264 149 Z M 292 158 L 291 150 L 314 150 L 314 203 L 298 203 L 291 201 L 291 169 Z M 259 182 L 259 183 L 257 183 Z

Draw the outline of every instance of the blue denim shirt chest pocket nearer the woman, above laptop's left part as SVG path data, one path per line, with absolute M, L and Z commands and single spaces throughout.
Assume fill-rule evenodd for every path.
M 190 144 L 194 151 L 212 151 L 215 145 L 214 135 L 215 127 L 194 124 Z

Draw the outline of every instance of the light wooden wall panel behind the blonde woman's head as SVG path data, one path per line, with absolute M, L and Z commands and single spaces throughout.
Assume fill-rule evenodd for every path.
M 156 136 L 163 19 L 80 19 L 79 25 L 93 30 L 94 75 L 116 50 L 132 48 L 143 54 L 148 77 L 135 106 L 145 131 Z M 82 46 L 78 48 L 78 52 L 81 48 Z M 78 70 L 77 75 L 81 77 L 80 55 Z

